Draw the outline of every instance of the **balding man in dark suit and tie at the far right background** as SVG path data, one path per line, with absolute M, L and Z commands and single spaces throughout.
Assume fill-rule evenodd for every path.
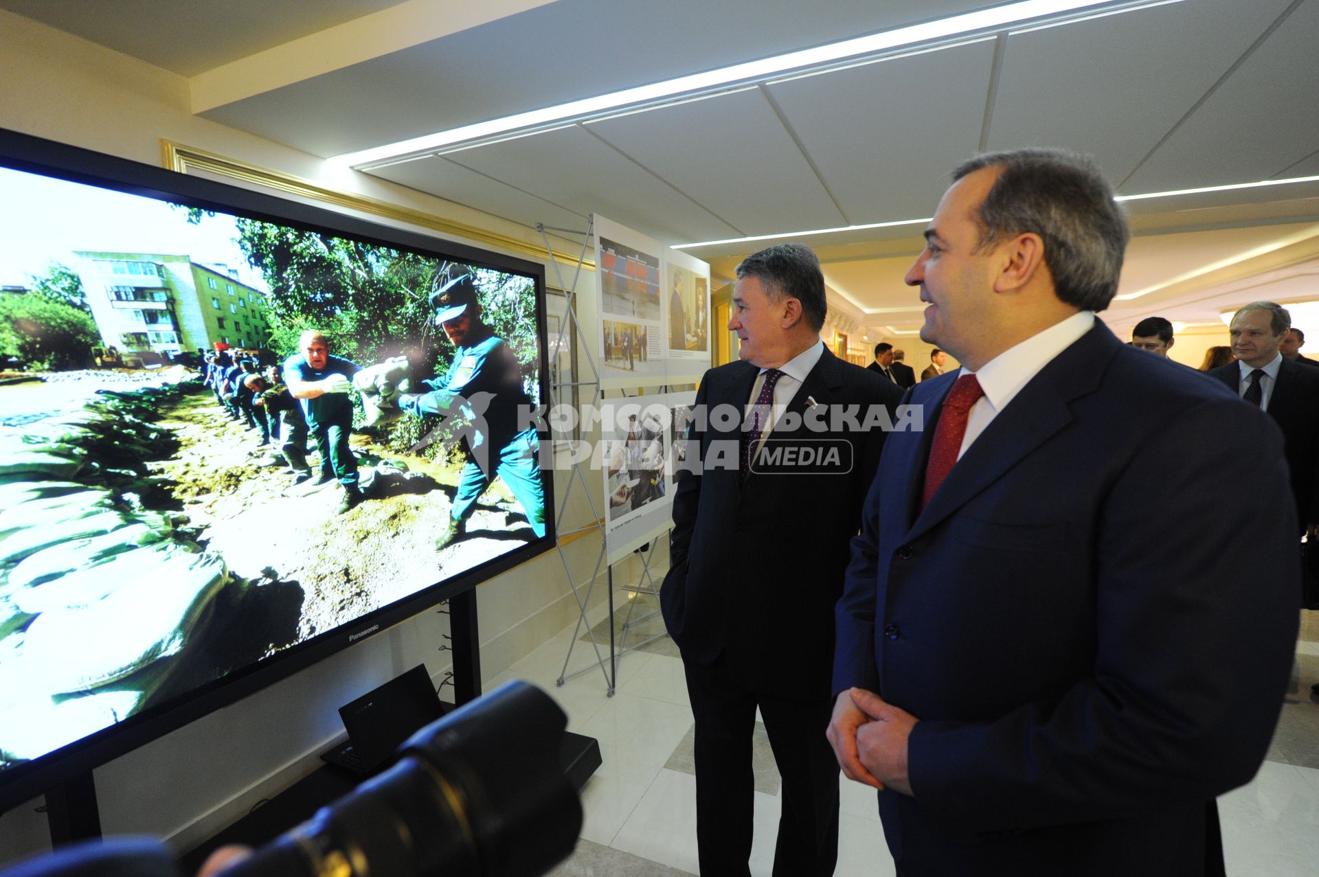
M 1237 361 L 1207 372 L 1246 402 L 1269 413 L 1282 430 L 1297 522 L 1319 535 L 1319 372 L 1279 352 L 1291 314 L 1273 302 L 1252 302 L 1232 317 L 1228 334 Z M 1256 385 L 1257 389 L 1252 389 Z

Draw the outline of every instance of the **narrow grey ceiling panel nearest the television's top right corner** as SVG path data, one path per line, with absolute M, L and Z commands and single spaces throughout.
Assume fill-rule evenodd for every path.
M 558 226 L 586 229 L 586 216 L 536 195 L 491 179 L 446 158 L 418 158 L 372 171 L 372 175 L 445 198 L 459 204 L 479 206 L 488 214 L 524 226 Z

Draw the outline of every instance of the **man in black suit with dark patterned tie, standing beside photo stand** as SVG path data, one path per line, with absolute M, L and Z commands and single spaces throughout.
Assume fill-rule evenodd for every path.
M 696 720 L 703 874 L 749 874 L 757 707 L 783 782 L 774 874 L 832 874 L 838 857 L 838 764 L 824 740 L 834 604 L 885 438 L 868 415 L 886 421 L 902 393 L 830 353 L 824 315 L 809 248 L 770 247 L 737 266 L 728 328 L 741 361 L 700 381 L 694 466 L 674 492 L 660 601 Z M 789 466 L 807 451 L 832 456 Z

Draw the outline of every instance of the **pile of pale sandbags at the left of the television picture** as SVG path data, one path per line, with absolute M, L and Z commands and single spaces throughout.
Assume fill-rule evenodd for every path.
M 82 411 L 0 430 L 0 764 L 113 724 L 158 691 L 230 583 L 152 509 L 152 423 L 189 386 L 100 390 Z

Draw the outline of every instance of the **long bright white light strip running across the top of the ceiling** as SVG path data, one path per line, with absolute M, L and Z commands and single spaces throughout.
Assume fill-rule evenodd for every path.
M 658 100 L 661 98 L 702 91 L 743 80 L 765 79 L 787 70 L 826 65 L 855 55 L 884 51 L 886 49 L 897 49 L 900 46 L 926 42 L 930 40 L 943 40 L 975 30 L 1002 28 L 1018 21 L 1029 21 L 1031 18 L 1066 13 L 1075 9 L 1087 9 L 1089 7 L 1105 5 L 1108 3 L 1111 3 L 1111 0 L 1021 0 L 1020 3 L 1009 3 L 989 9 L 967 12 L 948 18 L 940 18 L 938 21 L 927 21 L 925 24 L 894 28 L 893 30 L 868 34 L 865 37 L 843 40 L 840 42 L 816 46 L 814 49 L 789 51 L 773 58 L 748 61 L 744 63 L 731 65 L 728 67 L 720 67 L 718 70 L 708 70 L 706 73 L 667 79 L 665 82 L 637 86 L 634 88 L 624 88 L 621 91 L 613 91 L 595 98 L 570 100 L 568 103 L 520 112 L 512 116 L 504 116 L 503 119 L 492 119 L 472 125 L 462 125 L 459 128 L 451 128 L 448 131 L 441 131 L 422 137 L 401 140 L 384 146 L 344 153 L 330 158 L 330 161 L 360 167 L 364 165 L 372 165 L 373 162 L 389 161 L 408 156 L 410 153 L 439 149 L 441 146 L 462 142 L 464 140 L 477 140 L 481 137 L 500 135 L 517 128 L 532 128 L 565 119 L 591 116 L 608 109 L 615 109 L 617 107 L 625 107 L 628 104 Z

